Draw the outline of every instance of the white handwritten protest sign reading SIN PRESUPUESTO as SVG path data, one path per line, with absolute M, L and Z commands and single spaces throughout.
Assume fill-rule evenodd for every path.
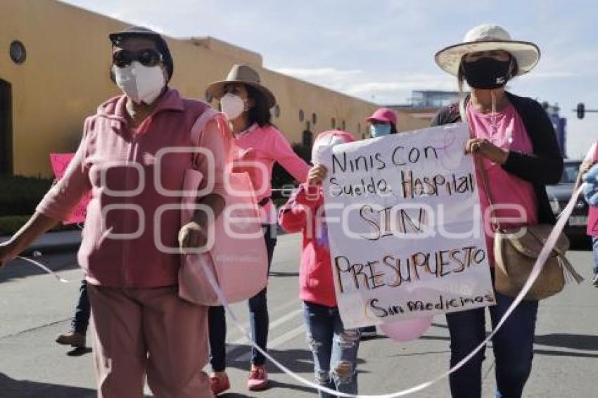
M 452 124 L 320 150 L 345 327 L 495 303 L 468 137 Z

